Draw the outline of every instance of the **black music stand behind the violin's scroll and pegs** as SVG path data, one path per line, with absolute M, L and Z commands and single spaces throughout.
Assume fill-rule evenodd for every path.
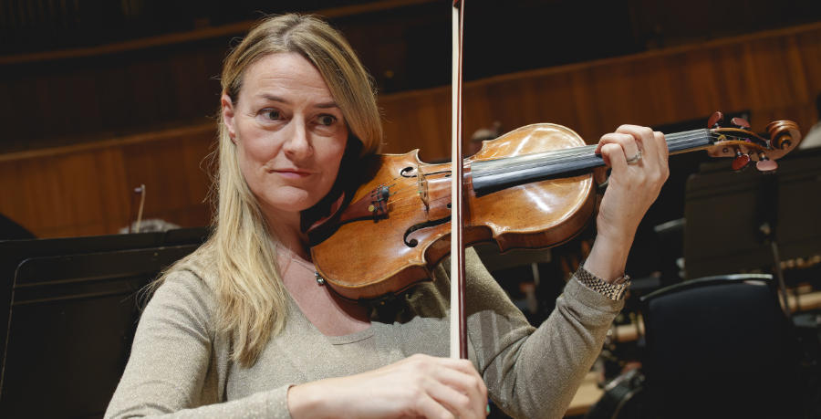
M 754 167 L 734 173 L 729 160 L 711 162 L 691 177 L 684 209 L 687 278 L 770 272 L 773 241 L 782 260 L 821 253 L 821 148 L 791 152 L 778 165 L 774 174 Z

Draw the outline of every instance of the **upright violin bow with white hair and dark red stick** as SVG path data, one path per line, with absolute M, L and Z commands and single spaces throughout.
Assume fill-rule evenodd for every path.
M 452 9 L 452 190 L 451 190 L 451 358 L 468 358 L 464 314 L 464 159 L 462 157 L 462 35 L 464 0 Z

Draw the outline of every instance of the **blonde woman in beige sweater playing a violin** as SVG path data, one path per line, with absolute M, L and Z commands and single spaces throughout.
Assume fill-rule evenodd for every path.
M 623 277 L 666 179 L 660 133 L 623 126 L 599 142 L 613 171 L 577 274 L 590 285 L 571 280 L 538 330 L 468 252 L 471 360 L 457 361 L 442 358 L 442 267 L 379 309 L 314 278 L 302 215 L 382 136 L 347 42 L 311 17 L 269 18 L 226 59 L 222 82 L 214 235 L 161 278 L 107 417 L 468 419 L 484 416 L 488 394 L 517 417 L 564 414 L 623 304 L 594 287 Z

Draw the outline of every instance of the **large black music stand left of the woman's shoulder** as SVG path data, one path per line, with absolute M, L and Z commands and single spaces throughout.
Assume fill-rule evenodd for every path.
M 140 288 L 207 235 L 0 242 L 0 417 L 102 417 L 129 359 Z

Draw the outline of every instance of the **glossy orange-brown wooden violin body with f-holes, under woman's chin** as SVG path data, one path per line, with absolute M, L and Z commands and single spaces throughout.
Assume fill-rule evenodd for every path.
M 584 146 L 576 132 L 535 124 L 509 132 L 465 159 L 464 241 L 502 252 L 547 248 L 577 236 L 593 219 L 593 173 L 573 173 L 477 193 L 471 164 Z M 390 297 L 433 280 L 451 252 L 451 165 L 421 162 L 418 150 L 369 157 L 364 182 L 308 231 L 317 272 L 342 297 Z M 386 280 L 388 279 L 388 280 Z

